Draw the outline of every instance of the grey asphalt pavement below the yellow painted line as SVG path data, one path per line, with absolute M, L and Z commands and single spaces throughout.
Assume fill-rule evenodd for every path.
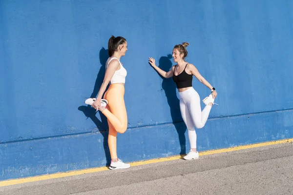
M 0 187 L 0 195 L 293 195 L 293 143 Z

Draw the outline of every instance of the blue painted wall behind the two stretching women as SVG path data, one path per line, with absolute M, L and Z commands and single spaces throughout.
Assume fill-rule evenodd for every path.
M 0 0 L 0 180 L 109 163 L 106 118 L 84 104 L 105 73 L 111 35 L 125 37 L 128 130 L 118 156 L 189 150 L 173 46 L 218 91 L 199 151 L 293 137 L 293 1 Z M 194 78 L 203 99 L 209 89 Z M 204 104 L 202 104 L 203 108 Z

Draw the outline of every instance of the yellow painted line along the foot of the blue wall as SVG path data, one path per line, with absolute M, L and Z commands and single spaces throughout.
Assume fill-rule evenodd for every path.
M 210 150 L 210 151 L 200 152 L 199 156 L 232 152 L 232 151 L 237 151 L 237 150 L 245 150 L 245 149 L 249 149 L 249 148 L 257 148 L 257 147 L 269 146 L 269 145 L 275 145 L 275 144 L 287 143 L 287 142 L 293 142 L 293 138 L 277 140 L 277 141 L 270 141 L 270 142 L 263 142 L 263 143 L 256 143 L 256 144 L 251 144 L 251 145 L 237 146 L 237 147 L 232 147 L 232 148 Z M 152 164 L 152 163 L 158 163 L 158 162 L 166 162 L 166 161 L 170 161 L 170 160 L 177 160 L 180 158 L 182 158 L 182 156 L 170 156 L 170 157 L 156 158 L 156 159 L 150 159 L 150 160 L 145 160 L 145 161 L 137 161 L 137 162 L 132 162 L 130 164 L 133 167 L 133 166 Z M 77 175 L 83 175 L 83 174 L 88 174 L 88 173 L 96 173 L 96 172 L 101 172 L 101 171 L 106 171 L 106 170 L 109 170 L 109 169 L 107 167 L 98 167 L 98 168 L 84 169 L 84 170 L 78 170 L 78 171 L 70 171 L 70 172 L 64 172 L 64 173 L 43 175 L 43 176 L 33 176 L 33 177 L 26 177 L 26 178 L 20 178 L 20 179 L 11 179 L 11 180 L 0 181 L 0 187 L 16 185 L 16 184 L 21 184 L 21 183 L 34 182 L 34 181 L 42 181 L 42 180 L 47 180 L 47 179 L 61 178 L 61 177 L 66 177 L 66 176 L 77 176 Z

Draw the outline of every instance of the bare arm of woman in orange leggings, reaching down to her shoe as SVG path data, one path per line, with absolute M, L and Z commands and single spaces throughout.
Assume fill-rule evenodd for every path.
M 100 103 L 101 103 L 101 99 L 102 99 L 102 96 L 111 80 L 111 78 L 113 77 L 115 71 L 120 67 L 120 64 L 118 62 L 118 60 L 114 59 L 112 60 L 108 67 L 106 68 L 106 72 L 105 72 L 105 77 L 104 77 L 104 80 L 103 80 L 103 83 L 101 85 L 101 88 L 99 90 L 99 93 L 98 93 L 98 97 L 96 99 L 96 101 L 94 101 L 93 103 L 93 107 L 94 108 L 97 108 L 97 107 L 100 107 Z

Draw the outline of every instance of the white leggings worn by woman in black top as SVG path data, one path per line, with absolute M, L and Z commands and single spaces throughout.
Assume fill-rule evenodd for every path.
M 195 128 L 203 128 L 208 120 L 211 106 L 207 105 L 203 111 L 200 107 L 198 93 L 191 87 L 184 92 L 179 92 L 180 111 L 188 129 L 190 148 L 196 148 Z

